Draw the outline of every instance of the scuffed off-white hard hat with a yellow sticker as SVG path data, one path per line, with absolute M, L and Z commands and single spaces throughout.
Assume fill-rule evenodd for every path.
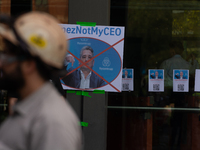
M 46 64 L 62 68 L 67 51 L 67 38 L 59 22 L 44 12 L 26 13 L 14 22 L 13 29 L 0 24 L 0 34 L 15 45 L 21 41 L 33 56 Z

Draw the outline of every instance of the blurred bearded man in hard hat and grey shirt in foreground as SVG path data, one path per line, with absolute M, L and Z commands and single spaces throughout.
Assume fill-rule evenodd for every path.
M 0 127 L 0 150 L 80 150 L 79 120 L 49 82 L 61 72 L 67 47 L 57 20 L 30 12 L 0 22 L 0 85 L 19 95 Z

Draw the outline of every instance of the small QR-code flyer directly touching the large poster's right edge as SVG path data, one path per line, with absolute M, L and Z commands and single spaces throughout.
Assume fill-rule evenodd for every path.
M 133 91 L 134 70 L 123 69 L 122 71 L 122 91 Z

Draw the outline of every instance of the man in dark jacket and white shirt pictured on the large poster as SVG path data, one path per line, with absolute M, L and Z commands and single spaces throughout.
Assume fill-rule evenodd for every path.
M 90 46 L 84 46 L 80 51 L 80 60 L 82 62 L 87 62 L 88 60 L 92 59 L 94 55 L 94 51 Z M 66 56 L 66 69 L 68 66 L 68 63 L 72 63 L 72 66 L 75 62 L 74 57 L 72 55 Z M 82 63 L 79 62 L 79 65 Z M 65 85 L 74 87 L 74 88 L 80 88 L 80 89 L 87 89 L 87 88 L 97 88 L 105 85 L 105 82 L 103 79 L 101 79 L 99 76 L 97 76 L 95 73 L 93 73 L 88 67 L 91 69 L 94 66 L 94 59 L 89 61 L 87 66 L 83 65 L 80 67 L 80 70 L 75 70 L 74 72 L 70 73 L 66 77 L 64 77 L 62 80 L 65 83 Z M 71 67 L 67 71 L 70 72 L 74 68 Z

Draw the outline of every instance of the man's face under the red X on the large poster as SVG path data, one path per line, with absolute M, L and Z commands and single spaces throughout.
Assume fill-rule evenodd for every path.
M 90 50 L 83 50 L 80 59 L 81 59 L 81 61 L 86 62 L 86 61 L 90 60 L 92 57 L 93 57 L 93 53 Z M 79 65 L 80 64 L 81 64 L 81 62 L 79 62 Z M 88 67 L 92 68 L 94 66 L 94 60 L 89 61 L 86 65 Z M 87 69 L 88 70 L 89 69 L 88 67 L 83 65 L 81 67 L 81 70 L 82 69 Z

